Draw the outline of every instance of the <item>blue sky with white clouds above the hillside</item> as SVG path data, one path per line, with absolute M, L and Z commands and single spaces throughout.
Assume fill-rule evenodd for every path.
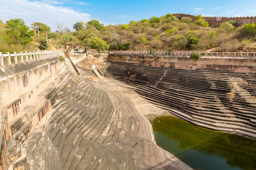
M 72 0 L 0 0 L 0 19 L 22 18 L 27 25 L 41 22 L 55 31 L 55 22 L 72 29 L 79 21 L 91 19 L 107 24 L 126 24 L 168 13 L 203 16 L 256 16 L 256 0 L 141 0 L 141 1 L 72 1 Z

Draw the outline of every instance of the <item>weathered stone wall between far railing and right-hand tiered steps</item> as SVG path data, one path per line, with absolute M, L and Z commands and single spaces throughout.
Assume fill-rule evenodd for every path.
M 239 73 L 256 73 L 256 57 L 205 56 L 194 61 L 189 56 L 155 56 L 143 54 L 109 54 L 109 62 L 134 65 L 172 67 L 176 69 L 230 70 Z

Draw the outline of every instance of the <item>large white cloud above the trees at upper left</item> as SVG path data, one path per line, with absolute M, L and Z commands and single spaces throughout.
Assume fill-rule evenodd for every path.
M 51 2 L 51 4 L 49 3 Z M 0 1 L 0 19 L 6 21 L 13 18 L 21 18 L 30 26 L 32 22 L 40 22 L 51 27 L 55 31 L 55 21 L 65 23 L 69 29 L 73 29 L 76 22 L 88 22 L 89 14 L 75 11 L 68 7 L 54 6 L 67 1 L 28 1 L 9 0 Z

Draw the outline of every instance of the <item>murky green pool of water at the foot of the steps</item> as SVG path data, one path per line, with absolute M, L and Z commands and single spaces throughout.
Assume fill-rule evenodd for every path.
M 193 169 L 256 169 L 256 141 L 198 128 L 176 117 L 153 121 L 155 139 Z

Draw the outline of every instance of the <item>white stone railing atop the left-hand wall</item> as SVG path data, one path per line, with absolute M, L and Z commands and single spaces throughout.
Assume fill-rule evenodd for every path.
M 52 51 L 39 51 L 39 52 L 30 52 L 30 53 L 16 53 L 10 54 L 7 52 L 7 54 L 2 54 L 0 52 L 0 66 L 5 65 L 12 65 L 13 63 L 21 63 L 21 62 L 28 62 L 33 61 L 36 59 L 42 59 L 42 58 L 52 58 L 52 57 L 58 57 L 61 53 L 59 51 L 52 52 Z

